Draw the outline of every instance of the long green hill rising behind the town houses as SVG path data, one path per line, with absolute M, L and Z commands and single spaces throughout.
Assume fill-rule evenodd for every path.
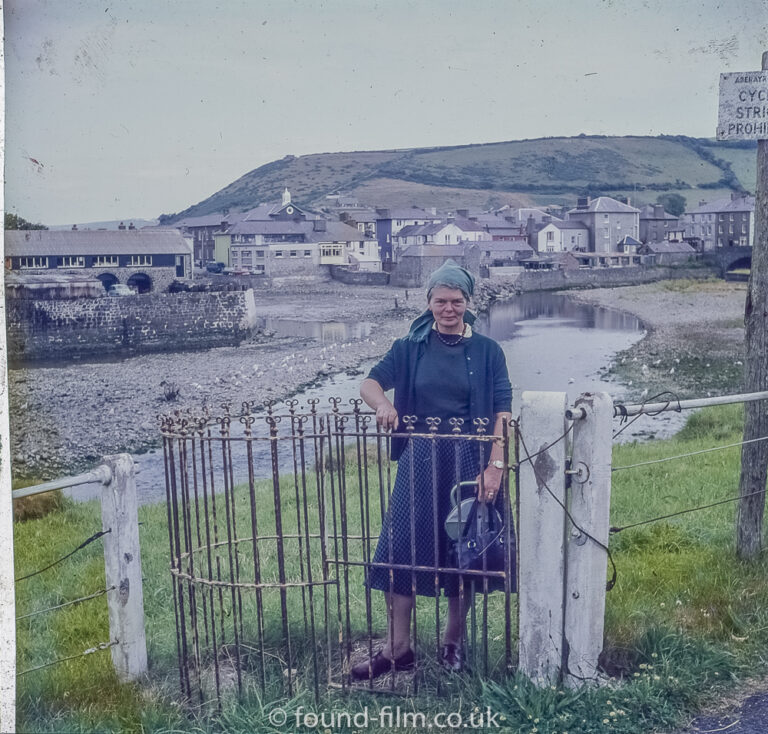
M 409 150 L 286 156 L 260 166 L 163 223 L 223 209 L 245 210 L 280 196 L 324 206 L 345 192 L 370 206 L 454 208 L 575 202 L 628 195 L 635 204 L 679 193 L 689 204 L 754 190 L 755 144 L 682 135 L 539 138 Z

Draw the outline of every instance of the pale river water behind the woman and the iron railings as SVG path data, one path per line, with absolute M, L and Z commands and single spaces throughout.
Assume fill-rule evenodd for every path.
M 312 337 L 321 341 L 343 341 L 375 333 L 375 325 L 361 322 L 321 323 L 270 319 L 265 323 L 278 336 Z M 403 322 L 403 333 L 408 323 Z M 634 316 L 587 304 L 576 303 L 567 296 L 552 293 L 529 293 L 493 304 L 488 314 L 480 317 L 475 328 L 498 341 L 507 357 L 513 385 L 513 414 L 517 415 L 523 390 L 564 391 L 573 401 L 583 392 L 605 390 L 614 397 L 624 397 L 625 388 L 608 382 L 601 372 L 620 352 L 643 336 L 643 326 Z M 372 363 L 361 366 L 362 373 L 338 374 L 296 395 L 302 404 L 309 398 L 320 400 L 319 410 L 329 408 L 329 398 L 339 397 L 344 405 L 358 397 L 360 381 Z M 257 420 L 256 425 L 263 424 Z M 671 425 L 671 424 L 670 424 Z M 674 428 L 674 426 L 672 427 Z M 669 433 L 661 427 L 661 433 Z M 233 425 L 233 435 L 235 427 Z M 634 434 L 638 436 L 642 434 Z M 632 439 L 633 433 L 626 432 Z M 256 460 L 259 477 L 271 476 L 266 443 L 257 442 L 261 455 Z M 233 442 L 235 482 L 247 479 L 244 445 Z M 240 455 L 241 454 L 241 455 Z M 281 471 L 293 471 L 287 458 Z M 140 472 L 137 476 L 139 501 L 165 499 L 165 473 L 162 451 L 136 456 Z M 81 487 L 72 491 L 77 498 L 95 496 L 97 487 Z

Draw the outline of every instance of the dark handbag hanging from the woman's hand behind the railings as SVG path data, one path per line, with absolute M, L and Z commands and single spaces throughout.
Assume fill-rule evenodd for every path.
M 455 494 L 454 494 L 455 498 Z M 469 505 L 469 507 L 467 507 Z M 466 512 L 466 520 L 457 525 L 455 515 L 458 512 Z M 462 571 L 504 571 L 507 559 L 507 543 L 504 522 L 498 510 L 491 503 L 480 502 L 477 499 L 456 502 L 449 519 L 453 525 L 449 535 L 448 561 L 454 567 Z M 446 525 L 448 521 L 446 521 Z M 459 533 L 456 530 L 460 530 Z M 451 538 L 452 535 L 458 537 Z M 515 543 L 514 531 L 510 533 L 510 589 L 517 590 L 517 574 L 515 573 Z M 470 574 L 464 576 L 464 583 L 477 582 L 475 588 L 489 591 L 504 589 L 504 579 L 500 576 L 482 576 Z

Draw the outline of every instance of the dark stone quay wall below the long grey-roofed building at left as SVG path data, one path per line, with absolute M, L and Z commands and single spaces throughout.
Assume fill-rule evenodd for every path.
M 8 299 L 12 364 L 233 346 L 256 326 L 253 290 Z

